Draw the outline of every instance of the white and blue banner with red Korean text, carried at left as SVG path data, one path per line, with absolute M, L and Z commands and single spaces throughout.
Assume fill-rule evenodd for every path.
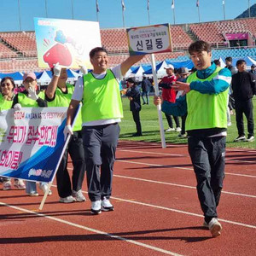
M 67 107 L 0 113 L 0 176 L 51 182 L 63 150 Z

